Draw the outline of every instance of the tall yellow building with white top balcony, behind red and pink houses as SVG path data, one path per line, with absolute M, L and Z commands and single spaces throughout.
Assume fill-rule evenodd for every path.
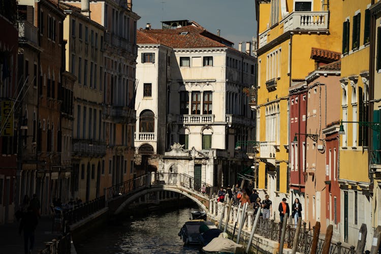
M 289 89 L 315 70 L 312 47 L 340 51 L 341 15 L 334 12 L 341 14 L 341 8 L 341 1 L 258 1 L 257 186 L 270 195 L 273 211 L 284 197 L 289 203 L 298 197 L 304 207 L 304 182 L 289 182 Z

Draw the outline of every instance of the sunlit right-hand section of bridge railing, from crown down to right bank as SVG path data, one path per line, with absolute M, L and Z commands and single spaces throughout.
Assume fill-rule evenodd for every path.
M 182 186 L 187 189 L 192 189 L 200 194 L 207 195 L 209 193 L 210 188 L 212 187 L 210 184 L 207 184 L 203 181 L 195 181 L 193 176 L 189 176 L 187 174 L 180 173 L 164 173 L 164 172 L 152 172 L 151 176 L 151 184 L 152 185 L 176 185 Z M 202 186 L 205 185 L 205 193 L 202 193 Z

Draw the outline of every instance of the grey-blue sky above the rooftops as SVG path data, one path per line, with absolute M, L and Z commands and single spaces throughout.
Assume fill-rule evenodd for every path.
M 213 34 L 220 29 L 220 36 L 235 48 L 238 42 L 251 41 L 257 29 L 254 0 L 133 0 L 132 4 L 141 17 L 138 29 L 146 23 L 160 29 L 162 20 L 194 20 Z

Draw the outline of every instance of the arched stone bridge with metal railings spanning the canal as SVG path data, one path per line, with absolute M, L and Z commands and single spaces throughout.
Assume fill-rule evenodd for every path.
M 117 215 L 136 200 L 147 202 L 150 193 L 154 193 L 159 202 L 178 193 L 208 212 L 209 196 L 200 192 L 202 184 L 207 190 L 211 187 L 206 183 L 195 182 L 192 176 L 186 174 L 152 172 L 106 189 L 106 202 L 110 211 Z

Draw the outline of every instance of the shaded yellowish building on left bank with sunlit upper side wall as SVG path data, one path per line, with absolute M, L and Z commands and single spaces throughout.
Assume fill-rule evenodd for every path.
M 61 4 L 66 71 L 77 77 L 73 101 L 72 198 L 88 202 L 103 194 L 106 142 L 103 131 L 103 49 L 105 28 L 81 9 Z M 70 142 L 70 141 L 69 141 Z

